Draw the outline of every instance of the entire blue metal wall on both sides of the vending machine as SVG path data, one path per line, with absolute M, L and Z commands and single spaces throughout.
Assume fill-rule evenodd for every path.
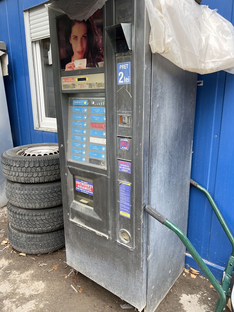
M 56 133 L 34 130 L 23 10 L 40 0 L 0 0 L 0 40 L 7 44 L 5 78 L 14 146 L 57 142 Z M 203 0 L 233 23 L 233 0 Z M 192 173 L 214 196 L 234 232 L 234 76 L 223 71 L 198 75 Z M 204 195 L 191 189 L 188 237 L 220 279 L 231 246 Z M 190 256 L 186 264 L 196 267 Z

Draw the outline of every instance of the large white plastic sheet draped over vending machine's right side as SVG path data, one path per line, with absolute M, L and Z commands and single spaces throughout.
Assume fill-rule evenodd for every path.
M 234 72 L 234 27 L 194 0 L 145 0 L 152 53 L 200 74 Z

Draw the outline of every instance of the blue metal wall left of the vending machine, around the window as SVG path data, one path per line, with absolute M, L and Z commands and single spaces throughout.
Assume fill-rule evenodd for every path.
M 9 76 L 4 78 L 14 146 L 57 142 L 54 132 L 34 129 L 23 10 L 40 0 L 0 1 L 0 40 L 7 46 Z

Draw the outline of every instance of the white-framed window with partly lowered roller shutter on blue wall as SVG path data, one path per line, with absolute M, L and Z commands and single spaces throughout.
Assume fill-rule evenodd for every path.
M 24 12 L 34 128 L 56 131 L 49 17 L 44 5 Z

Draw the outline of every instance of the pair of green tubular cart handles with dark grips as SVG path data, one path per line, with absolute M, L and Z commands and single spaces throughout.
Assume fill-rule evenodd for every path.
M 232 244 L 232 253 L 231 253 L 231 256 L 229 257 L 227 266 L 224 270 L 221 285 L 218 283 L 214 275 L 208 269 L 205 262 L 202 260 L 201 256 L 199 256 L 198 252 L 196 251 L 196 249 L 193 247 L 193 245 L 189 241 L 188 237 L 183 233 L 183 231 L 181 231 L 180 228 L 178 228 L 175 224 L 173 224 L 171 221 L 169 221 L 166 217 L 164 217 L 160 212 L 158 212 L 156 209 L 152 208 L 151 206 L 146 205 L 144 209 L 146 212 L 149 213 L 149 215 L 154 217 L 156 220 L 164 224 L 166 227 L 168 227 L 170 230 L 172 230 L 178 235 L 180 240 L 186 246 L 190 254 L 193 256 L 194 260 L 197 262 L 198 266 L 202 269 L 202 271 L 207 276 L 208 280 L 213 285 L 214 289 L 217 291 L 219 295 L 219 299 L 217 301 L 217 305 L 216 305 L 214 312 L 222 312 L 226 303 L 226 296 L 230 295 L 228 290 L 229 290 L 229 285 L 230 285 L 231 278 L 232 278 L 232 271 L 233 271 L 233 265 L 234 265 L 234 238 L 221 212 L 219 211 L 214 199 L 212 198 L 211 194 L 205 188 L 203 188 L 201 185 L 199 185 L 192 179 L 190 180 L 190 184 L 206 195 L 208 201 L 211 204 L 213 211 L 215 212 L 220 224 L 222 225 L 224 232 L 226 233 L 229 241 Z

